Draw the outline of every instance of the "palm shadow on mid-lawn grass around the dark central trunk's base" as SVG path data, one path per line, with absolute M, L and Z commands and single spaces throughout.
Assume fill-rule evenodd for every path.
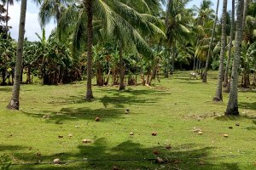
M 102 98 L 96 99 L 102 103 L 104 108 L 92 110 L 88 107 L 78 106 L 73 107 L 73 104 L 85 103 L 82 96 L 68 96 L 67 98 L 62 99 L 53 99 L 49 102 L 50 105 L 68 105 L 62 107 L 60 111 L 37 111 L 37 112 L 26 112 L 22 113 L 27 116 L 32 116 L 36 118 L 42 118 L 43 116 L 47 117 L 46 122 L 55 122 L 59 123 L 62 121 L 75 121 L 78 119 L 81 120 L 91 120 L 95 121 L 96 116 L 100 116 L 103 121 L 110 121 L 113 118 L 119 118 L 125 115 L 125 107 L 127 105 L 156 105 L 159 98 L 155 97 L 157 94 L 165 94 L 165 92 L 154 89 L 145 89 L 145 90 L 125 90 L 125 92 L 119 92 L 114 89 L 104 89 L 107 95 L 104 95 Z M 143 98 L 142 95 L 152 95 L 151 98 Z M 139 96 L 139 97 L 138 97 Z M 111 105 L 112 108 L 109 108 Z M 126 108 L 129 109 L 129 108 Z

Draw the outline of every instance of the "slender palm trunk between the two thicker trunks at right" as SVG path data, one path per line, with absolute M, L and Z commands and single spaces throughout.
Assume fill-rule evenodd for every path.
M 232 19 L 231 19 L 231 29 L 230 29 L 230 45 L 229 45 L 229 56 L 227 65 L 225 68 L 224 84 L 223 87 L 227 87 L 229 83 L 229 71 L 230 71 L 230 59 L 231 59 L 231 50 L 232 50 L 232 41 L 233 41 L 233 32 L 234 32 L 234 23 L 235 23 L 235 0 L 232 0 Z

